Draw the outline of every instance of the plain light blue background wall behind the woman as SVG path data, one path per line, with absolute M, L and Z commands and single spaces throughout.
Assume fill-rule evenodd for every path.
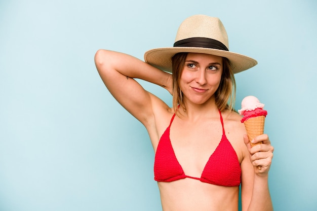
M 94 65 L 111 49 L 143 59 L 186 17 L 219 17 L 230 50 L 258 60 L 236 75 L 236 109 L 255 95 L 275 147 L 275 210 L 316 210 L 316 1 L 0 1 L 0 210 L 161 210 L 143 126 Z M 162 88 L 141 82 L 171 104 Z

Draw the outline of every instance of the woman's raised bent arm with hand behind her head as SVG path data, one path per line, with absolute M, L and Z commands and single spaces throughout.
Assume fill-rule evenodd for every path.
M 95 55 L 98 73 L 113 97 L 142 124 L 153 116 L 153 103 L 160 100 L 134 78 L 160 85 L 172 92 L 172 76 L 133 56 L 98 50 Z

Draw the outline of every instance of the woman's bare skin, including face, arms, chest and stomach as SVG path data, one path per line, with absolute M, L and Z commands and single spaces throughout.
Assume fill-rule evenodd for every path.
M 147 129 L 156 152 L 160 137 L 174 114 L 160 98 L 147 92 L 134 78 L 160 85 L 172 93 L 172 75 L 132 56 L 98 50 L 97 70 L 104 84 Z M 179 86 L 186 112 L 179 109 L 171 126 L 171 143 L 186 175 L 200 178 L 207 160 L 218 146 L 222 126 L 214 93 L 222 74 L 222 59 L 209 54 L 189 53 Z M 241 116 L 223 111 L 226 136 L 242 168 L 242 209 L 272 210 L 268 190 L 268 171 L 273 147 L 266 134 L 253 141 L 251 148 Z M 213 128 L 212 130 L 210 128 Z M 261 166 L 261 169 L 258 166 Z M 238 210 L 239 187 L 223 187 L 186 178 L 158 182 L 163 210 Z

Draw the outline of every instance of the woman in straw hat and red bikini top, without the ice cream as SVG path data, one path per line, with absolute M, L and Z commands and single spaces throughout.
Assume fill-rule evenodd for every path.
M 108 90 L 149 133 L 163 210 L 237 210 L 240 184 L 243 210 L 272 210 L 273 147 L 263 134 L 252 140 L 263 144 L 251 148 L 232 109 L 233 74 L 257 62 L 229 52 L 221 21 L 205 15 L 187 18 L 174 47 L 152 49 L 145 61 L 107 50 L 95 55 Z M 167 89 L 173 108 L 134 78 Z

